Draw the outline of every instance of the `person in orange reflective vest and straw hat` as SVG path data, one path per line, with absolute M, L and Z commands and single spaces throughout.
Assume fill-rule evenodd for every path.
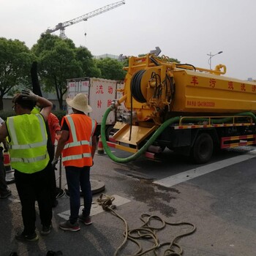
M 66 99 L 73 113 L 64 116 L 61 121 L 61 137 L 56 148 L 53 165 L 56 165 L 62 152 L 62 161 L 66 170 L 69 189 L 70 217 L 67 222 L 61 222 L 62 230 L 78 231 L 78 218 L 84 224 L 91 224 L 91 183 L 90 167 L 93 165 L 94 153 L 97 147 L 95 134 L 97 122 L 86 113 L 92 111 L 85 94 L 77 94 L 74 99 Z M 79 214 L 80 188 L 83 192 L 83 214 Z

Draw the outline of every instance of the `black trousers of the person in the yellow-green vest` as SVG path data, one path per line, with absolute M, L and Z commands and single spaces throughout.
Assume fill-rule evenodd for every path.
M 49 226 L 53 213 L 47 167 L 44 170 L 31 174 L 15 170 L 15 184 L 22 206 L 24 235 L 32 235 L 35 232 L 36 200 L 39 207 L 41 224 Z

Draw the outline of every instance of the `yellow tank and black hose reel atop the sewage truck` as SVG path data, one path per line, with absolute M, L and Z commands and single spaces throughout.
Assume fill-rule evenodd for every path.
M 129 58 L 124 105 L 132 120 L 162 124 L 172 116 L 255 113 L 256 83 L 223 76 L 222 64 L 213 70 L 168 59 L 150 53 Z M 124 122 L 130 118 L 124 113 Z

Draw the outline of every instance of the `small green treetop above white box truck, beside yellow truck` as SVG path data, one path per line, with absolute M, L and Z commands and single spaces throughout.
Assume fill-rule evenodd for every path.
M 101 78 L 124 80 L 126 72 L 123 70 L 123 64 L 117 59 L 99 59 L 96 61 L 96 65 L 101 71 Z

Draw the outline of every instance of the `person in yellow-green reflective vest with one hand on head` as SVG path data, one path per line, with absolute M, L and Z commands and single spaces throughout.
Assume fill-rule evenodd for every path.
M 15 184 L 22 206 L 23 232 L 17 234 L 18 241 L 37 241 L 35 221 L 35 201 L 39 206 L 41 235 L 48 235 L 51 228 L 52 208 L 47 175 L 49 155 L 48 135 L 45 121 L 49 116 L 52 103 L 48 99 L 24 89 L 13 99 L 13 110 L 17 116 L 7 118 L 0 127 L 0 142 L 7 137 L 10 162 L 15 169 Z M 35 104 L 42 108 L 40 113 L 31 114 Z

